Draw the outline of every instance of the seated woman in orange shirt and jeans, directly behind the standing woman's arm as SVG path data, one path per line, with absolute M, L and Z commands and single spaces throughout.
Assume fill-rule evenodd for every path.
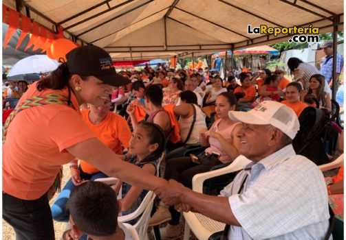
M 110 102 L 101 107 L 89 104 L 89 109 L 81 110 L 80 113 L 85 123 L 94 131 L 103 144 L 107 145 L 116 154 L 122 154 L 122 145 L 129 147 L 131 131 L 126 120 L 120 115 L 109 111 L 109 107 Z M 127 155 L 123 155 L 122 158 L 126 159 Z M 51 207 L 53 219 L 56 221 L 68 221 L 69 214 L 65 210 L 65 206 L 69 194 L 75 186 L 85 180 L 94 181 L 97 178 L 107 177 L 105 173 L 102 173 L 89 163 L 80 160 L 80 165 L 78 166 L 77 162 L 77 160 L 74 160 L 69 166 L 71 178 L 58 197 L 56 197 Z

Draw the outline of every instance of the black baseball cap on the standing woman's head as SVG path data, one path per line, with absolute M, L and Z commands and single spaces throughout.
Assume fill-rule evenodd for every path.
M 123 86 L 131 82 L 127 77 L 116 73 L 111 56 L 100 47 L 76 47 L 66 54 L 66 59 L 70 74 L 93 75 L 111 86 Z

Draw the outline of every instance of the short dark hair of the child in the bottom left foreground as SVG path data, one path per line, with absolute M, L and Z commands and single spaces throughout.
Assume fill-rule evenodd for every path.
M 74 224 L 88 235 L 113 235 L 118 226 L 116 193 L 103 182 L 84 182 L 74 188 L 67 209 Z

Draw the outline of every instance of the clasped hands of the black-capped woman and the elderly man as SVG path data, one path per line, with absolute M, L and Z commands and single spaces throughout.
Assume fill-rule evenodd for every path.
M 166 206 L 174 206 L 175 210 L 180 213 L 194 211 L 188 204 L 193 191 L 173 179 L 169 180 L 168 184 L 155 189 L 154 192 Z

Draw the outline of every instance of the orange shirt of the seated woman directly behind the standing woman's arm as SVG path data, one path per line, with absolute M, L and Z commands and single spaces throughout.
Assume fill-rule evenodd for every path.
M 91 123 L 89 119 L 89 109 L 81 110 L 82 119 L 94 132 L 96 137 L 116 154 L 122 154 L 122 147 L 129 147 L 131 139 L 131 130 L 127 121 L 113 112 L 108 112 L 107 116 L 99 124 Z M 80 160 L 80 168 L 88 174 L 97 173 L 98 170 L 93 165 Z

